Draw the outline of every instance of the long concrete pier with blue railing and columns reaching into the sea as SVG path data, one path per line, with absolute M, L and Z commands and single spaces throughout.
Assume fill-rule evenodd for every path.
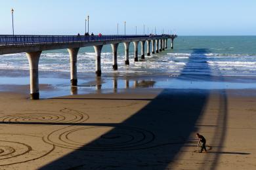
M 77 86 L 77 54 L 79 48 L 93 46 L 95 48 L 95 73 L 101 76 L 102 46 L 110 44 L 113 52 L 113 69 L 117 70 L 117 48 L 120 43 L 125 46 L 124 64 L 129 65 L 129 45 L 134 44 L 134 61 L 139 61 L 138 44 L 141 43 L 141 59 L 159 53 L 167 48 L 171 39 L 171 48 L 177 35 L 102 35 L 102 36 L 68 36 L 68 35 L 0 35 L 0 55 L 26 52 L 30 65 L 30 96 L 39 99 L 38 63 L 44 50 L 68 49 L 70 54 L 70 82 Z M 150 50 L 151 49 L 151 50 Z

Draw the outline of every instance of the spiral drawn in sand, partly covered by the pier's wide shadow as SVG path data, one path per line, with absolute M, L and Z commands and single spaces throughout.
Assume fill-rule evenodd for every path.
M 145 129 L 127 126 L 69 127 L 53 131 L 45 141 L 79 150 L 137 150 L 154 141 L 154 134 Z

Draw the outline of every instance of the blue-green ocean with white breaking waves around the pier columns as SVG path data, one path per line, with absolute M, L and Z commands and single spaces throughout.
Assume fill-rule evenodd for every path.
M 170 46 L 168 41 L 168 48 L 165 51 L 145 56 L 146 59 L 134 62 L 131 43 L 130 65 L 127 66 L 124 61 L 123 44 L 119 44 L 118 71 L 113 71 L 112 49 L 110 45 L 105 45 L 101 58 L 101 89 L 106 92 L 112 92 L 113 88 L 123 90 L 127 88 L 124 80 L 129 80 L 130 84 L 137 84 L 136 88 L 256 88 L 256 36 L 179 36 L 175 39 L 173 50 Z M 28 59 L 25 53 L 2 55 L 0 69 L 1 85 L 30 83 Z M 77 72 L 79 93 L 95 92 L 98 81 L 95 80 L 93 47 L 80 48 L 77 56 Z M 70 58 L 66 49 L 44 51 L 41 54 L 39 82 L 56 89 L 51 96 L 70 93 L 69 90 L 66 92 L 66 89 L 70 89 L 69 74 Z M 116 84 L 113 85 L 114 82 Z M 0 88 L 0 90 L 7 89 Z M 45 97 L 49 97 L 47 92 Z

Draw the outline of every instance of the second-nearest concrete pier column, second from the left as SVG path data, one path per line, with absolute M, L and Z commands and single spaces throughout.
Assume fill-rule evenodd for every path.
M 79 48 L 68 48 L 70 54 L 70 82 L 72 86 L 77 86 L 77 54 Z

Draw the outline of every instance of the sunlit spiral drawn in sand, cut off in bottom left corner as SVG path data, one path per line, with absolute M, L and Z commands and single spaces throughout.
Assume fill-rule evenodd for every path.
M 0 135 L 0 166 L 37 160 L 54 150 L 53 144 L 44 143 L 41 137 Z

